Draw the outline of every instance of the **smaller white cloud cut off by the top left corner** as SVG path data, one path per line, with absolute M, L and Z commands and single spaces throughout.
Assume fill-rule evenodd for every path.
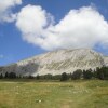
M 0 22 L 13 22 L 16 14 L 13 14 L 11 9 L 22 4 L 22 0 L 0 0 Z

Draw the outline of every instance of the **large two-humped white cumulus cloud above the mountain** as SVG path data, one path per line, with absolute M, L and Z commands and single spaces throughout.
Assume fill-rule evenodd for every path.
M 17 15 L 23 39 L 44 50 L 108 45 L 108 23 L 93 6 L 70 10 L 58 24 L 41 6 L 27 5 Z

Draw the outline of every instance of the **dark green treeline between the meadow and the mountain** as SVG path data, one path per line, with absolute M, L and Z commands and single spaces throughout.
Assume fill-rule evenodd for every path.
M 102 68 L 96 68 L 95 70 L 87 69 L 87 70 L 81 70 L 78 69 L 73 71 L 73 73 L 66 73 L 63 72 L 62 75 L 44 75 L 44 76 L 16 76 L 14 72 L 5 73 L 5 75 L 0 75 L 0 79 L 36 79 L 36 80 L 60 80 L 60 81 L 66 81 L 66 80 L 78 80 L 78 79 L 100 79 L 100 80 L 108 80 L 108 67 L 102 67 Z

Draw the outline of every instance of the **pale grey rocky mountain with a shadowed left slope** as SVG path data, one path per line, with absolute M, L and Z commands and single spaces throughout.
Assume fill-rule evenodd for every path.
M 0 71 L 23 76 L 59 75 L 63 72 L 70 73 L 77 69 L 95 69 L 102 66 L 108 66 L 108 57 L 91 49 L 76 49 L 48 52 L 1 67 Z

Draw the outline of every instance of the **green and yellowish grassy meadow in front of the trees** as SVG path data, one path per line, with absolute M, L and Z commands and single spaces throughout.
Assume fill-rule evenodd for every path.
M 0 108 L 108 108 L 108 81 L 0 81 Z

